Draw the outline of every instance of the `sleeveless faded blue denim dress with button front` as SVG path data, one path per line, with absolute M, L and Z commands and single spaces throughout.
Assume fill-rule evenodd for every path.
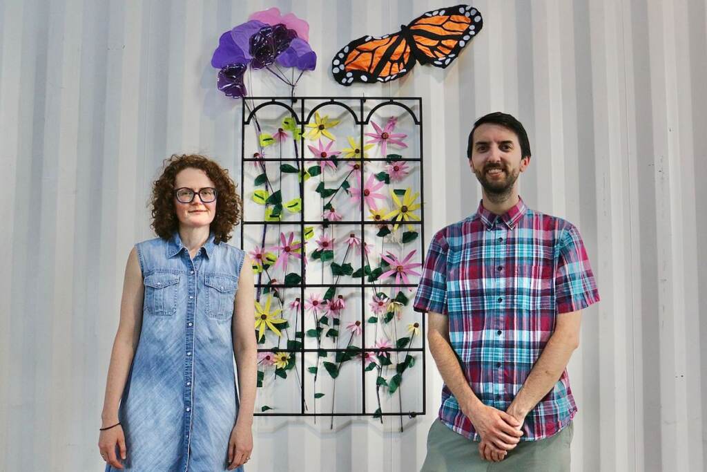
M 193 260 L 178 233 L 135 247 L 145 298 L 119 408 L 123 470 L 226 471 L 238 413 L 231 318 L 245 252 L 215 244 L 214 234 Z

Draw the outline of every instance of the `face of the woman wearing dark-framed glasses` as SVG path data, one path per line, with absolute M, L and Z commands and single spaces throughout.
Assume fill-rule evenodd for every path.
M 214 182 L 201 169 L 188 167 L 182 169 L 175 177 L 175 190 L 178 188 L 189 188 L 194 192 L 194 200 L 191 203 L 182 203 L 173 197 L 175 210 L 180 226 L 189 228 L 199 228 L 209 226 L 216 216 L 216 200 L 209 203 L 201 201 L 198 192 L 202 188 L 216 188 Z M 206 200 L 209 200 L 208 198 Z

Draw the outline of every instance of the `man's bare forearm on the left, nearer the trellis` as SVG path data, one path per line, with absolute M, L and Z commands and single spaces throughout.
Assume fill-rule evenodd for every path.
M 452 346 L 436 331 L 430 331 L 428 344 L 442 380 L 452 391 L 464 414 L 468 416 L 472 410 L 481 405 L 481 401 L 469 386 L 469 381 L 462 372 L 459 359 L 452 350 Z

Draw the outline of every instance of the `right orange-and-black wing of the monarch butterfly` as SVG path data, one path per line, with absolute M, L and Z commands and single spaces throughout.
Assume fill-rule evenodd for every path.
M 476 8 L 457 5 L 428 11 L 407 25 L 406 33 L 420 64 L 445 68 L 459 57 L 462 48 L 483 26 L 484 20 Z

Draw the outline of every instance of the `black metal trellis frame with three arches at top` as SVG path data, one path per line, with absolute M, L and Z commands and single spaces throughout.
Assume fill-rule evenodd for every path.
M 252 110 L 247 106 L 246 100 L 250 101 L 254 106 Z M 346 100 L 347 102 L 356 102 L 358 101 L 358 113 L 351 108 L 351 106 L 347 105 L 346 103 L 343 103 L 342 100 Z M 373 106 L 367 114 L 364 113 L 364 103 L 367 101 L 369 102 L 375 102 L 378 103 L 377 105 Z M 305 103 L 316 103 L 315 106 L 313 106 L 307 115 L 305 115 Z M 407 103 L 414 103 L 414 105 L 417 106 L 417 109 L 419 110 L 419 114 L 416 114 L 414 110 L 412 110 Z M 247 157 L 245 154 L 245 133 L 246 133 L 246 127 L 251 124 L 252 120 L 255 119 L 258 110 L 261 108 L 267 107 L 267 106 L 279 106 L 281 108 L 284 108 L 285 110 L 288 110 L 288 113 L 294 118 L 296 121 L 296 125 L 300 127 L 300 131 L 302 134 L 305 133 L 305 125 L 310 122 L 312 119 L 312 116 L 314 113 L 319 110 L 319 108 L 322 108 L 325 105 L 339 105 L 342 108 L 346 109 L 351 113 L 351 115 L 354 117 L 354 122 L 356 126 L 358 127 L 359 131 L 359 143 L 361 146 L 363 146 L 364 141 L 364 127 L 368 125 L 370 122 L 370 118 L 373 116 L 376 110 L 378 108 L 385 106 L 385 105 L 397 105 L 400 108 L 404 109 L 409 113 L 409 115 L 412 117 L 415 125 L 419 127 L 419 158 L 412 158 L 412 159 L 402 159 L 402 161 L 408 161 L 408 162 L 416 162 L 419 164 L 419 175 L 420 175 L 420 202 L 421 202 L 421 207 L 420 207 L 420 221 L 406 221 L 405 224 L 411 224 L 413 226 L 419 226 L 419 238 L 420 238 L 420 245 L 421 245 L 421 260 L 424 263 L 424 251 L 425 251 L 425 241 L 424 241 L 424 234 L 423 234 L 423 225 L 425 221 L 425 216 L 424 216 L 424 178 L 423 178 L 423 133 L 422 133 L 422 99 L 419 97 L 399 97 L 399 98 L 391 98 L 391 97 L 385 97 L 385 98 L 380 98 L 380 97 L 317 97 L 317 96 L 310 96 L 310 97 L 248 97 L 248 98 L 243 98 L 242 99 L 242 120 L 241 120 L 241 156 L 242 156 L 242 161 L 241 161 L 241 170 L 240 170 L 240 195 L 243 198 L 243 201 L 245 202 L 245 166 L 246 163 L 248 162 L 253 162 L 253 161 L 258 161 L 258 162 L 269 162 L 269 161 L 275 161 L 275 162 L 284 162 L 284 161 L 298 161 L 300 168 L 302 171 L 305 171 L 305 163 L 308 161 L 316 161 L 317 159 L 314 158 L 307 158 L 305 159 L 305 139 L 302 138 L 298 142 L 298 146 L 300 148 L 300 153 L 299 156 L 297 156 L 295 159 L 289 158 L 289 159 L 283 159 L 282 157 L 280 158 L 265 158 L 263 156 L 260 157 Z M 299 108 L 299 110 L 296 110 L 296 108 Z M 349 161 L 353 161 L 354 159 L 349 159 Z M 363 149 L 361 149 L 361 158 L 358 159 L 358 161 L 361 162 L 361 175 L 360 175 L 360 185 L 361 189 L 364 188 L 364 179 L 365 179 L 365 172 L 363 171 L 363 163 L 366 161 L 369 162 L 375 162 L 375 161 L 387 161 L 386 157 L 381 157 L 381 158 L 366 158 L 363 153 Z M 349 350 L 347 347 L 344 348 L 335 348 L 335 349 L 324 349 L 324 348 L 305 348 L 305 287 L 312 287 L 312 288 L 324 288 L 324 287 L 332 287 L 335 286 L 337 288 L 358 288 L 361 289 L 361 323 L 363 325 L 362 333 L 361 333 L 361 350 L 358 352 L 378 352 L 377 349 L 373 347 L 366 347 L 366 324 L 368 323 L 366 321 L 366 289 L 375 289 L 376 287 L 416 287 L 416 284 L 373 284 L 373 283 L 366 283 L 366 275 L 362 275 L 361 277 L 361 283 L 358 284 L 307 284 L 305 283 L 306 281 L 306 271 L 305 271 L 305 226 L 310 226 L 310 225 L 332 225 L 332 226 L 355 226 L 358 225 L 361 228 L 361 267 L 366 267 L 366 251 L 363 250 L 363 247 L 365 247 L 366 243 L 366 231 L 364 231 L 366 225 L 380 225 L 384 223 L 384 221 L 366 221 L 365 217 L 365 209 L 366 205 L 363 205 L 363 195 L 361 196 L 361 220 L 360 221 L 308 221 L 304 219 L 305 215 L 305 192 L 304 192 L 304 185 L 305 185 L 305 179 L 300 178 L 299 179 L 299 194 L 301 198 L 301 210 L 300 210 L 300 221 L 287 221 L 287 222 L 281 222 L 281 221 L 245 221 L 245 212 L 243 214 L 243 219 L 244 221 L 240 225 L 240 244 L 241 248 L 244 248 L 245 246 L 245 226 L 249 225 L 258 225 L 258 226 L 267 226 L 269 224 L 272 224 L 274 226 L 281 226 L 281 225 L 290 225 L 290 226 L 300 226 L 300 238 L 302 242 L 302 258 L 300 260 L 300 283 L 299 284 L 269 284 L 269 283 L 259 283 L 255 284 L 255 286 L 258 289 L 262 288 L 269 288 L 269 289 L 300 289 L 300 321 L 302 323 L 302 338 L 301 338 L 301 347 L 300 349 L 280 349 L 277 348 L 276 350 L 278 352 L 293 352 L 297 353 L 300 355 L 300 362 L 299 366 L 300 367 L 300 412 L 299 413 L 274 413 L 274 412 L 267 412 L 267 413 L 260 413 L 257 412 L 255 415 L 257 416 L 325 416 L 325 417 L 331 417 L 331 416 L 373 416 L 376 415 L 376 413 L 366 413 L 366 362 L 361 362 L 361 384 L 362 384 L 362 396 L 361 396 L 361 411 L 356 412 L 356 413 L 308 413 L 305 411 L 305 352 L 317 352 L 317 355 L 319 355 L 322 352 L 325 352 L 327 355 L 329 353 L 337 353 L 337 352 L 349 352 L 351 353 L 351 350 Z M 274 188 L 272 189 L 274 191 Z M 402 225 L 402 222 L 401 222 Z M 245 248 L 244 248 L 245 249 Z M 412 303 L 412 300 L 410 301 Z M 402 352 L 402 353 L 407 353 L 407 354 L 414 354 L 415 352 L 420 352 L 421 353 L 421 359 L 419 362 L 422 364 L 422 410 L 421 411 L 400 411 L 400 412 L 382 412 L 378 413 L 380 416 L 401 416 L 401 415 L 407 415 L 410 418 L 414 418 L 416 415 L 424 415 L 426 413 L 426 370 L 425 370 L 425 345 L 426 345 L 426 337 L 425 337 L 425 316 L 421 316 L 421 347 L 416 347 L 416 348 L 391 348 L 387 350 L 387 352 L 395 353 L 395 352 Z M 295 339 L 297 339 L 297 335 L 295 336 Z M 272 352 L 272 348 L 259 348 L 258 352 Z M 317 357 L 318 359 L 318 357 Z

